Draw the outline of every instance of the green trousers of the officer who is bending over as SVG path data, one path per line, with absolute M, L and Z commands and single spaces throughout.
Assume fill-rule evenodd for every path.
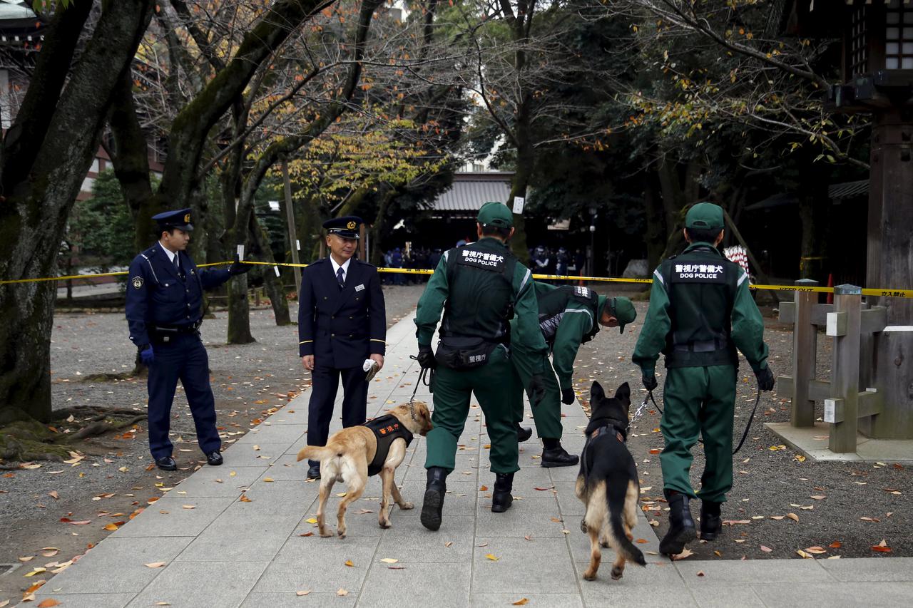
M 542 355 L 534 355 L 519 347 L 510 351 L 510 362 L 513 363 L 513 387 L 510 391 L 510 409 L 514 421 L 523 421 L 523 392 L 530 388 L 530 379 Z M 545 357 L 543 377 L 545 379 L 545 396 L 539 404 L 530 398 L 532 419 L 536 423 L 536 435 L 546 439 L 561 439 L 561 388 L 551 368 L 551 362 Z

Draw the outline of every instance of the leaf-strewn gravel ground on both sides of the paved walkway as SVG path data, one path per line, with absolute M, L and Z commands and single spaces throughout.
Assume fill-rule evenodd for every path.
M 384 286 L 388 324 L 415 307 L 421 290 L 422 286 Z M 640 373 L 630 362 L 646 309 L 645 303 L 636 306 L 638 321 L 624 334 L 603 330 L 581 348 L 574 381 L 582 395 L 588 395 L 590 383 L 599 380 L 607 392 L 629 382 L 636 404 L 643 398 Z M 772 313 L 769 316 L 766 339 L 771 346 L 771 364 L 775 373 L 788 373 L 792 332 L 776 323 Z M 237 434 L 226 438 L 230 442 L 246 433 L 269 407 L 287 403 L 310 380 L 300 367 L 295 327 L 276 327 L 270 309 L 251 311 L 257 342 L 243 346 L 222 343 L 226 312 L 216 312 L 215 317 L 206 320 L 203 335 L 219 424 L 226 433 Z M 826 339 L 819 344 L 818 373 L 824 377 L 829 372 L 830 349 Z M 51 344 L 54 407 L 92 404 L 142 411 L 146 402 L 144 379 L 85 381 L 89 374 L 129 372 L 134 352 L 122 313 L 58 315 Z M 740 372 L 737 436 L 748 419 L 756 390 L 747 363 L 742 362 Z M 662 393 L 662 370 L 659 380 L 657 401 Z M 913 555 L 913 508 L 907 499 L 913 494 L 913 482 L 908 469 L 890 462 L 886 466 L 800 462 L 790 449 L 771 451 L 771 446 L 781 442 L 762 423 L 788 419 L 789 404 L 765 393 L 749 439 L 736 456 L 735 483 L 723 511 L 724 519 L 733 523 L 724 528 L 719 540 L 694 543 L 691 559 L 797 558 L 796 550 L 809 547 L 826 550 L 822 557 Z M 662 474 L 658 456 L 650 453 L 663 446 L 658 426 L 658 412 L 648 411 L 635 424 L 628 446 L 640 468 L 645 488 L 642 498 L 646 506 L 654 508 L 648 513 L 649 519 L 656 520 L 656 533 L 662 537 L 667 526 L 661 502 Z M 87 442 L 80 446 L 87 456 L 78 464 L 43 463 L 37 469 L 0 477 L 0 564 L 19 565 L 18 557 L 37 556 L 27 565 L 45 565 L 47 558 L 39 553 L 42 547 L 58 548 L 59 554 L 51 562 L 79 555 L 87 545 L 107 536 L 106 524 L 126 519 L 136 508 L 146 506 L 150 498 L 161 496 L 160 487 L 172 487 L 200 466 L 202 456 L 180 388 L 172 425 L 178 471 L 164 473 L 148 468 L 151 457 L 144 430 L 145 425 L 141 425 L 135 438 L 104 437 Z M 565 429 L 567 433 L 573 431 Z M 694 454 L 692 478 L 697 485 L 703 467 L 699 445 Z M 698 504 L 692 510 L 697 517 Z M 799 521 L 785 517 L 788 513 Z M 90 523 L 74 526 L 61 522 L 61 518 Z M 881 540 L 887 541 L 892 552 L 871 550 Z M 839 548 L 835 543 L 840 543 Z M 16 575 L 0 576 L 0 603 L 5 598 L 18 598 L 26 582 Z

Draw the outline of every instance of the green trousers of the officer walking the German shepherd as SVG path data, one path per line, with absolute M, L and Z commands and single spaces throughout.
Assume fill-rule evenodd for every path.
M 666 447 L 659 456 L 663 485 L 691 498 L 724 502 L 732 487 L 732 416 L 736 401 L 736 367 L 677 367 L 666 370 L 666 404 L 660 429 Z M 704 440 L 707 463 L 700 490 L 691 488 L 691 447 Z

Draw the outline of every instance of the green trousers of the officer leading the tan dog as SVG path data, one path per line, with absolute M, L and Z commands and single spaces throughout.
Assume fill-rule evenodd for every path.
M 491 352 L 485 365 L 472 370 L 457 371 L 437 366 L 432 386 L 435 411 L 431 414 L 431 422 L 434 428 L 426 438 L 425 468 L 454 469 L 456 443 L 466 425 L 469 398 L 476 393 L 491 441 L 491 470 L 495 473 L 519 471 L 517 427 L 509 402 L 512 373 L 507 350 L 502 346 Z

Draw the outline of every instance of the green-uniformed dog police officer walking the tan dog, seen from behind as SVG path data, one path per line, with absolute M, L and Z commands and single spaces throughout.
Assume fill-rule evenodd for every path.
M 427 435 L 427 486 L 422 525 L 441 526 L 446 477 L 456 466 L 456 442 L 476 393 L 491 438 L 491 470 L 495 473 L 491 510 L 506 511 L 517 465 L 516 425 L 510 410 L 509 344 L 522 344 L 538 355 L 530 388 L 541 398 L 547 347 L 537 319 L 532 273 L 505 245 L 513 235 L 513 216 L 501 203 L 486 203 L 478 211 L 478 241 L 448 250 L 418 300 L 418 362 L 436 370 L 432 383 L 435 428 Z M 441 321 L 437 352 L 431 350 L 437 321 Z M 509 319 L 517 316 L 509 334 Z

